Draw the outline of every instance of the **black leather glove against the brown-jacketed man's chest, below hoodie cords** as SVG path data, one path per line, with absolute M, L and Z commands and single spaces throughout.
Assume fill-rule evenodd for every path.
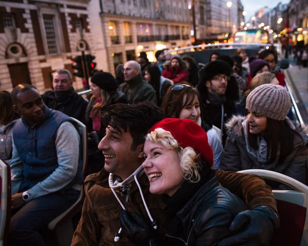
M 156 245 L 155 232 L 151 224 L 139 214 L 129 214 L 126 210 L 120 212 L 120 222 L 123 234 L 139 246 Z

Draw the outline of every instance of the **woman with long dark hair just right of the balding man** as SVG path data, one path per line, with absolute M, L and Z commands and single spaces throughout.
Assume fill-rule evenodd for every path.
M 144 78 L 154 88 L 157 105 L 160 106 L 168 88 L 173 85 L 173 81 L 161 76 L 159 67 L 155 63 L 151 63 L 145 68 Z

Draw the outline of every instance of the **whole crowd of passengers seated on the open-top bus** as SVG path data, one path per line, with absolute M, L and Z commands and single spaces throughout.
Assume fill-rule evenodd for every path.
M 292 120 L 275 50 L 215 52 L 203 67 L 188 55 L 155 56 L 150 63 L 141 52 L 116 78 L 95 73 L 88 99 L 65 69 L 43 95 L 28 84 L 0 91 L 10 245 L 46 245 L 40 230 L 83 182 L 74 246 L 269 243 L 279 228 L 272 189 L 290 188 L 234 171 L 266 169 L 307 184 L 308 137 Z M 87 127 L 86 177 L 71 117 Z

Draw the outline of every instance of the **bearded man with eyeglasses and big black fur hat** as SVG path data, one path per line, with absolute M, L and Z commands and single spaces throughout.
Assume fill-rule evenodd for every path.
M 222 60 L 208 63 L 199 72 L 197 89 L 200 93 L 203 117 L 221 130 L 222 144 L 226 140 L 225 122 L 235 114 L 235 103 L 226 95 L 232 68 Z

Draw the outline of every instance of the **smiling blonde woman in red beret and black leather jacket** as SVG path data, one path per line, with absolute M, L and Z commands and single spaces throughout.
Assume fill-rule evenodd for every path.
M 206 132 L 196 122 L 177 118 L 159 121 L 147 134 L 144 158 L 149 191 L 163 194 L 167 206 L 168 245 L 216 245 L 232 236 L 230 223 L 247 207 L 220 186 L 210 169 L 213 152 Z

